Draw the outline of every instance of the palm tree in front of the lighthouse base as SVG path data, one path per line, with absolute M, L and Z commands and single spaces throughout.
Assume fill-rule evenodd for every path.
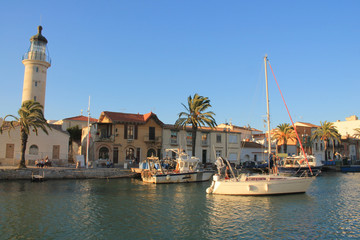
M 46 134 L 48 134 L 46 127 L 50 129 L 50 126 L 48 125 L 44 117 L 43 106 L 33 100 L 23 102 L 21 108 L 18 111 L 18 114 L 19 117 L 13 115 L 6 115 L 4 117 L 4 121 L 0 127 L 0 133 L 2 133 L 5 127 L 7 127 L 10 134 L 11 129 L 15 129 L 15 127 L 20 126 L 21 160 L 19 168 L 26 168 L 25 150 L 27 140 L 31 131 L 35 132 L 35 134 L 38 135 L 38 129 L 41 129 Z M 15 120 L 6 122 L 5 120 L 7 117 L 12 117 Z

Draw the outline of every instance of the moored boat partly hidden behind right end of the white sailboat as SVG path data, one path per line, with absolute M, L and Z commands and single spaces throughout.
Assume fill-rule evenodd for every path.
M 309 171 L 309 166 L 315 175 L 321 172 L 323 164 L 315 156 L 307 156 L 308 164 L 303 155 L 290 156 L 284 158 L 278 166 L 278 171 L 284 174 L 301 175 L 304 171 Z

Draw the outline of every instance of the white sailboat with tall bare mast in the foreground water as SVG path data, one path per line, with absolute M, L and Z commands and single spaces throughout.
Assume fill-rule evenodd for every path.
M 270 136 L 270 111 L 269 111 L 267 62 L 268 59 L 267 56 L 265 56 L 264 63 L 265 63 L 266 100 L 267 100 L 268 155 L 270 158 L 271 136 Z M 206 189 L 206 192 L 208 194 L 257 196 L 257 195 L 305 193 L 307 189 L 310 187 L 311 182 L 315 178 L 315 177 L 308 177 L 305 175 L 300 177 L 282 176 L 278 174 L 271 174 L 270 171 L 268 174 L 256 174 L 256 175 L 242 174 L 240 176 L 235 176 L 229 162 L 226 159 L 218 159 L 218 162 L 221 161 L 224 163 L 225 166 L 230 168 L 231 177 L 222 177 L 220 174 L 215 174 L 213 176 L 213 181 L 211 183 L 211 186 Z M 270 161 L 268 162 L 270 169 Z

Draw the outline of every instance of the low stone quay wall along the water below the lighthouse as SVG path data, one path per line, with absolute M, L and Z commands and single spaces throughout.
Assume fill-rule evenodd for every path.
M 92 178 L 124 178 L 134 177 L 130 170 L 120 168 L 25 168 L 0 169 L 0 180 L 31 180 L 33 175 L 49 179 L 92 179 Z

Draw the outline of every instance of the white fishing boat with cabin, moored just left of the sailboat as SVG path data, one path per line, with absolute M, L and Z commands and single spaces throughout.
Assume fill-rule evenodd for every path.
M 141 178 L 146 183 L 187 183 L 208 181 L 213 176 L 213 170 L 201 168 L 200 159 L 190 157 L 181 149 L 167 149 L 177 154 L 176 168 L 174 170 L 164 169 L 160 162 L 158 169 L 149 165 L 150 168 L 141 172 Z

